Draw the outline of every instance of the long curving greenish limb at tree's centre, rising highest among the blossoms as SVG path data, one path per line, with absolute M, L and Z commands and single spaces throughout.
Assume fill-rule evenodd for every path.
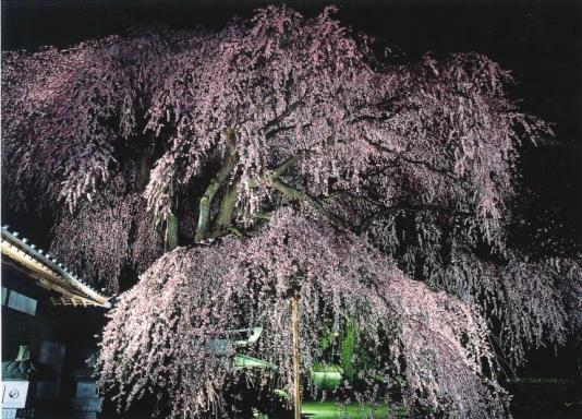
M 237 154 L 235 143 L 234 143 L 234 131 L 228 129 L 226 132 L 227 135 L 227 148 L 228 155 L 216 175 L 210 180 L 210 184 L 206 188 L 204 195 L 201 197 L 199 204 L 199 214 L 198 214 L 198 226 L 196 228 L 196 242 L 201 242 L 208 236 L 208 229 L 210 227 L 210 207 L 213 200 L 222 184 L 228 180 L 228 177 L 237 161 L 239 156 Z

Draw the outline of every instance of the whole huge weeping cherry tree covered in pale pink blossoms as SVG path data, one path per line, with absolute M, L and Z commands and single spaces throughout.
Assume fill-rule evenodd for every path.
M 507 240 L 520 144 L 550 128 L 484 56 L 374 48 L 332 9 L 269 7 L 3 53 L 7 202 L 49 211 L 51 251 L 120 292 L 98 372 L 121 408 L 232 417 L 234 351 L 209 347 L 254 325 L 293 394 L 295 307 L 305 376 L 323 321 L 350 322 L 375 357 L 357 397 L 401 375 L 411 409 L 500 418 L 500 360 L 580 330 L 580 259 Z

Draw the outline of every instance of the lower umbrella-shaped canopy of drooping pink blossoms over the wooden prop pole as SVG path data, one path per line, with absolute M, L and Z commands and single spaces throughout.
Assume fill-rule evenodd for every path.
M 410 404 L 458 418 L 505 415 L 486 324 L 474 307 L 408 278 L 356 236 L 289 210 L 253 238 L 180 248 L 155 263 L 109 314 L 101 383 L 123 407 L 157 388 L 171 400 L 171 417 L 220 410 L 234 351 L 217 355 L 211 340 L 262 326 L 254 355 L 277 366 L 290 390 L 293 289 L 305 373 L 322 355 L 322 315 L 332 331 L 350 320 L 377 354 L 380 367 L 367 374 L 388 378 L 385 366 L 396 364 Z

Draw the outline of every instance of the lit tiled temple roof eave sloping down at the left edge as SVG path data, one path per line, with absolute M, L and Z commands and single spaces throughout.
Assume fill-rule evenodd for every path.
M 38 286 L 56 292 L 50 301 L 54 306 L 110 308 L 109 298 L 71 273 L 52 255 L 29 243 L 9 226 L 1 229 L 2 263 L 24 272 Z

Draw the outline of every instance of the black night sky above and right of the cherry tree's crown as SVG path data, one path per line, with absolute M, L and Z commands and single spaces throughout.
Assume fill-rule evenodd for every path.
M 272 1 L 245 0 L 3 0 L 2 49 L 68 46 L 161 23 L 221 27 Z M 307 15 L 329 1 L 288 1 Z M 513 72 L 522 106 L 556 123 L 559 147 L 526 151 L 524 177 L 549 211 L 582 232 L 582 0 L 344 0 L 339 19 L 355 31 L 396 46 L 408 58 L 427 51 L 478 51 Z M 549 210 L 548 210 L 549 208 Z M 575 228 L 571 228 L 575 227 Z M 575 232 L 572 232 L 575 231 Z

